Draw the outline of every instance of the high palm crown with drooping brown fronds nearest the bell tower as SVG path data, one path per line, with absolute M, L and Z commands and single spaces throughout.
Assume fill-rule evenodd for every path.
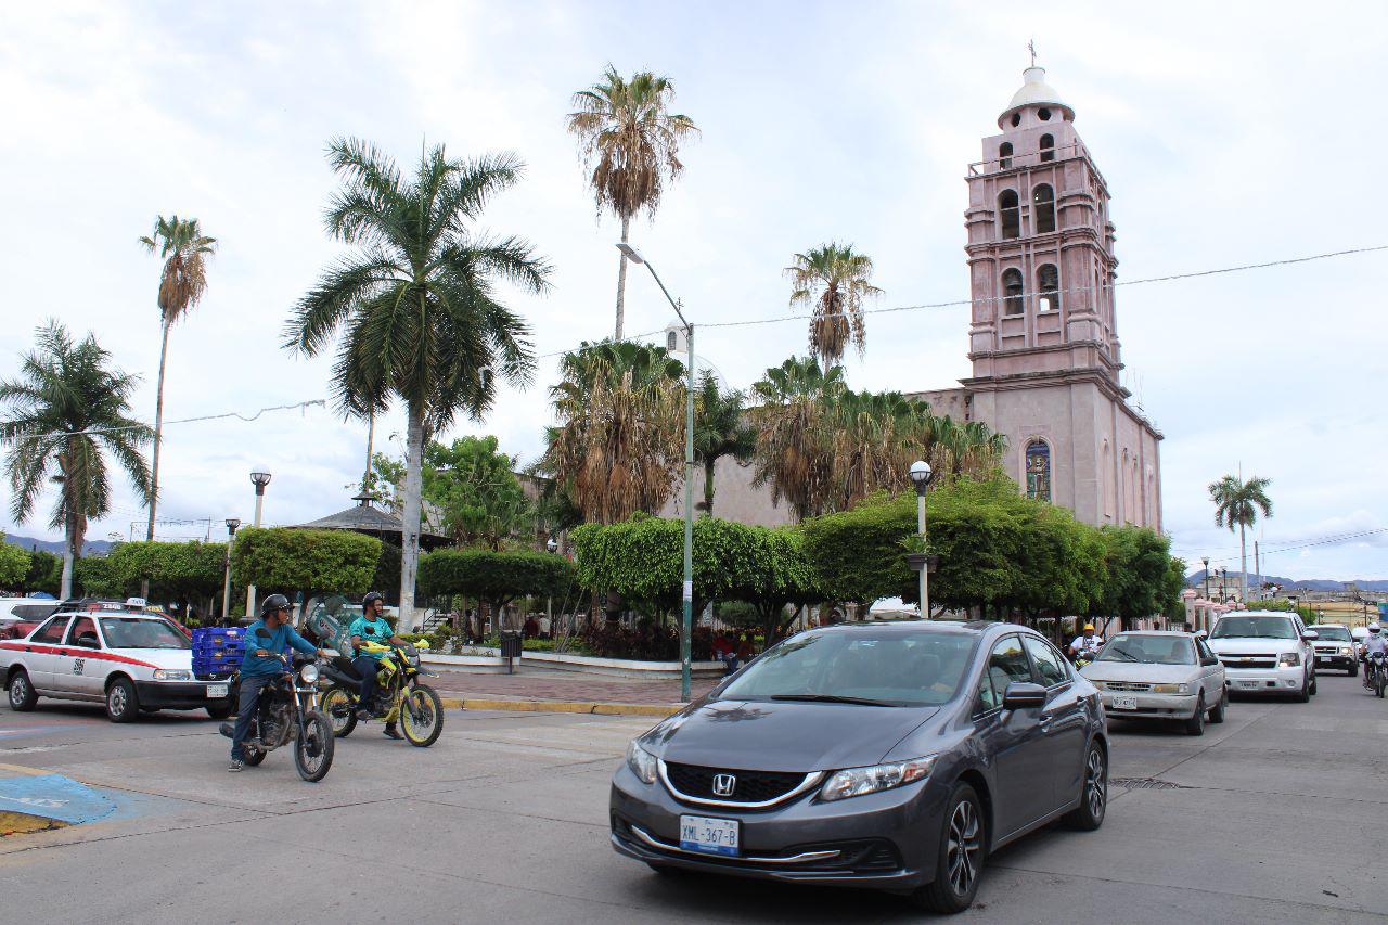
M 794 286 L 791 307 L 811 308 L 809 350 L 823 368 L 843 360 L 849 339 L 862 354 L 867 342 L 863 301 L 881 294 L 881 289 L 867 282 L 872 258 L 854 251 L 852 244 L 830 242 L 808 254 L 795 254 L 786 276 Z

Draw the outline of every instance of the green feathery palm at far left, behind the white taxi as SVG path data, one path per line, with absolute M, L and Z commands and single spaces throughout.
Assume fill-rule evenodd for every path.
M 140 497 L 154 503 L 154 486 L 140 447 L 149 426 L 128 417 L 139 378 L 110 365 L 111 354 L 89 333 L 74 343 L 57 321 L 37 329 L 36 349 L 18 379 L 0 382 L 0 442 L 10 447 L 10 515 L 29 519 L 46 482 L 58 486 L 49 526 L 62 529 L 62 589 L 72 596 L 74 560 L 87 522 L 111 507 L 105 453 L 115 457 Z

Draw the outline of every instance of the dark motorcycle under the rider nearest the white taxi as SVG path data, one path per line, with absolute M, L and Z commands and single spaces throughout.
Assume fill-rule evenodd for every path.
M 279 658 L 290 671 L 280 672 L 261 690 L 251 731 L 242 743 L 244 761 L 255 767 L 271 751 L 293 742 L 298 776 L 315 783 L 333 767 L 335 743 L 333 726 L 318 704 L 319 668 L 312 657 Z M 219 731 L 230 739 L 236 725 L 223 722 Z

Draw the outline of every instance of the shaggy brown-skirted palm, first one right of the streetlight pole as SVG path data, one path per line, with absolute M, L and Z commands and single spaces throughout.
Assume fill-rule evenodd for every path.
M 813 357 L 791 357 L 752 385 L 759 403 L 754 485 L 770 483 L 798 519 L 823 514 L 833 481 L 833 406 L 844 392 L 843 367 L 827 372 Z

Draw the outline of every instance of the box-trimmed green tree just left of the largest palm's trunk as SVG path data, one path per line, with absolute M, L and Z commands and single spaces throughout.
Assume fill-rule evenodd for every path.
M 314 594 L 365 594 L 382 543 L 350 531 L 243 526 L 232 546 L 232 581 L 307 601 Z M 412 589 L 411 589 L 412 590 Z M 404 608 L 403 625 L 409 625 Z

